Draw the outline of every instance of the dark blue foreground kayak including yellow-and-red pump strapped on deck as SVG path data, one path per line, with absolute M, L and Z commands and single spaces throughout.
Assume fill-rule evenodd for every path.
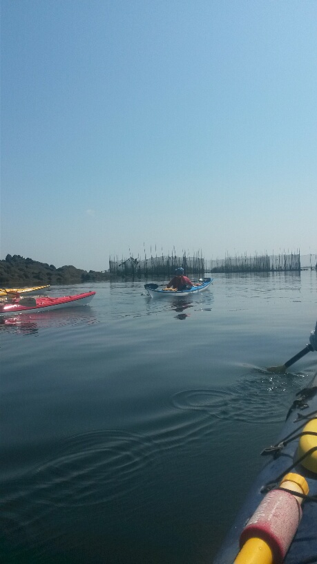
M 256 550 L 256 543 L 262 543 L 265 549 L 269 545 L 273 564 L 317 563 L 317 373 L 311 384 L 296 395 L 276 444 L 262 455 L 266 458 L 265 465 L 213 564 L 269 562 L 262 552 L 259 556 L 253 553 L 253 560 L 252 554 L 242 558 L 240 551 L 247 552 L 246 540 L 251 551 Z M 294 476 L 290 479 L 295 482 L 302 480 L 309 492 L 306 486 L 301 487 L 296 497 L 289 489 L 290 482 L 284 482 L 287 486 L 283 489 L 285 476 L 286 480 L 289 476 Z M 273 496 L 277 501 L 269 510 Z M 290 505 L 283 505 L 285 499 L 286 503 L 294 503 L 294 511 L 289 509 Z M 294 533 L 287 541 L 285 538 L 290 534 L 287 529 L 293 518 Z

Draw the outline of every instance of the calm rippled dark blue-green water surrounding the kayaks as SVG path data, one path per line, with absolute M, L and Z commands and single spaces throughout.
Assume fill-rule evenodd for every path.
M 317 273 L 216 275 L 184 301 L 144 281 L 0 321 L 1 563 L 205 564 L 316 370 Z

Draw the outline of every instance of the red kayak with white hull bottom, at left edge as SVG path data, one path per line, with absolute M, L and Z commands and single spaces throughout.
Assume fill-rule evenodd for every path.
M 86 306 L 96 292 L 86 292 L 84 294 L 75 294 L 75 296 L 63 296 L 61 298 L 48 298 L 46 296 L 25 297 L 3 301 L 0 303 L 0 316 L 12 315 L 17 313 L 41 312 L 46 310 L 57 310 L 61 308 L 70 308 L 73 306 Z

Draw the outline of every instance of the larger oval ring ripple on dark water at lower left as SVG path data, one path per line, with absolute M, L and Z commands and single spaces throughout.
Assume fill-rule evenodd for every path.
M 152 460 L 153 447 L 141 436 L 123 431 L 81 435 L 37 469 L 38 493 L 64 507 L 99 505 L 137 488 L 137 476 Z

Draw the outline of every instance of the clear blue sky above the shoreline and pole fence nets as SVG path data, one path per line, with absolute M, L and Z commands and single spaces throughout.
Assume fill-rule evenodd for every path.
M 1 259 L 317 250 L 316 0 L 1 0 Z

